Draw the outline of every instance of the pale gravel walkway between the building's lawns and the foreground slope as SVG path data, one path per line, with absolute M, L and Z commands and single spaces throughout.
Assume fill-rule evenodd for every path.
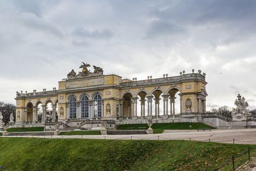
M 11 136 L 7 136 L 11 137 Z M 16 137 L 16 136 L 15 136 Z M 19 136 L 18 136 L 19 137 Z M 20 136 L 21 137 L 21 136 Z M 39 138 L 83 138 L 83 139 L 132 139 L 132 140 L 191 140 L 234 144 L 256 144 L 256 128 L 251 129 L 212 129 L 203 130 L 165 130 L 162 134 L 140 135 L 48 135 L 23 136 Z

